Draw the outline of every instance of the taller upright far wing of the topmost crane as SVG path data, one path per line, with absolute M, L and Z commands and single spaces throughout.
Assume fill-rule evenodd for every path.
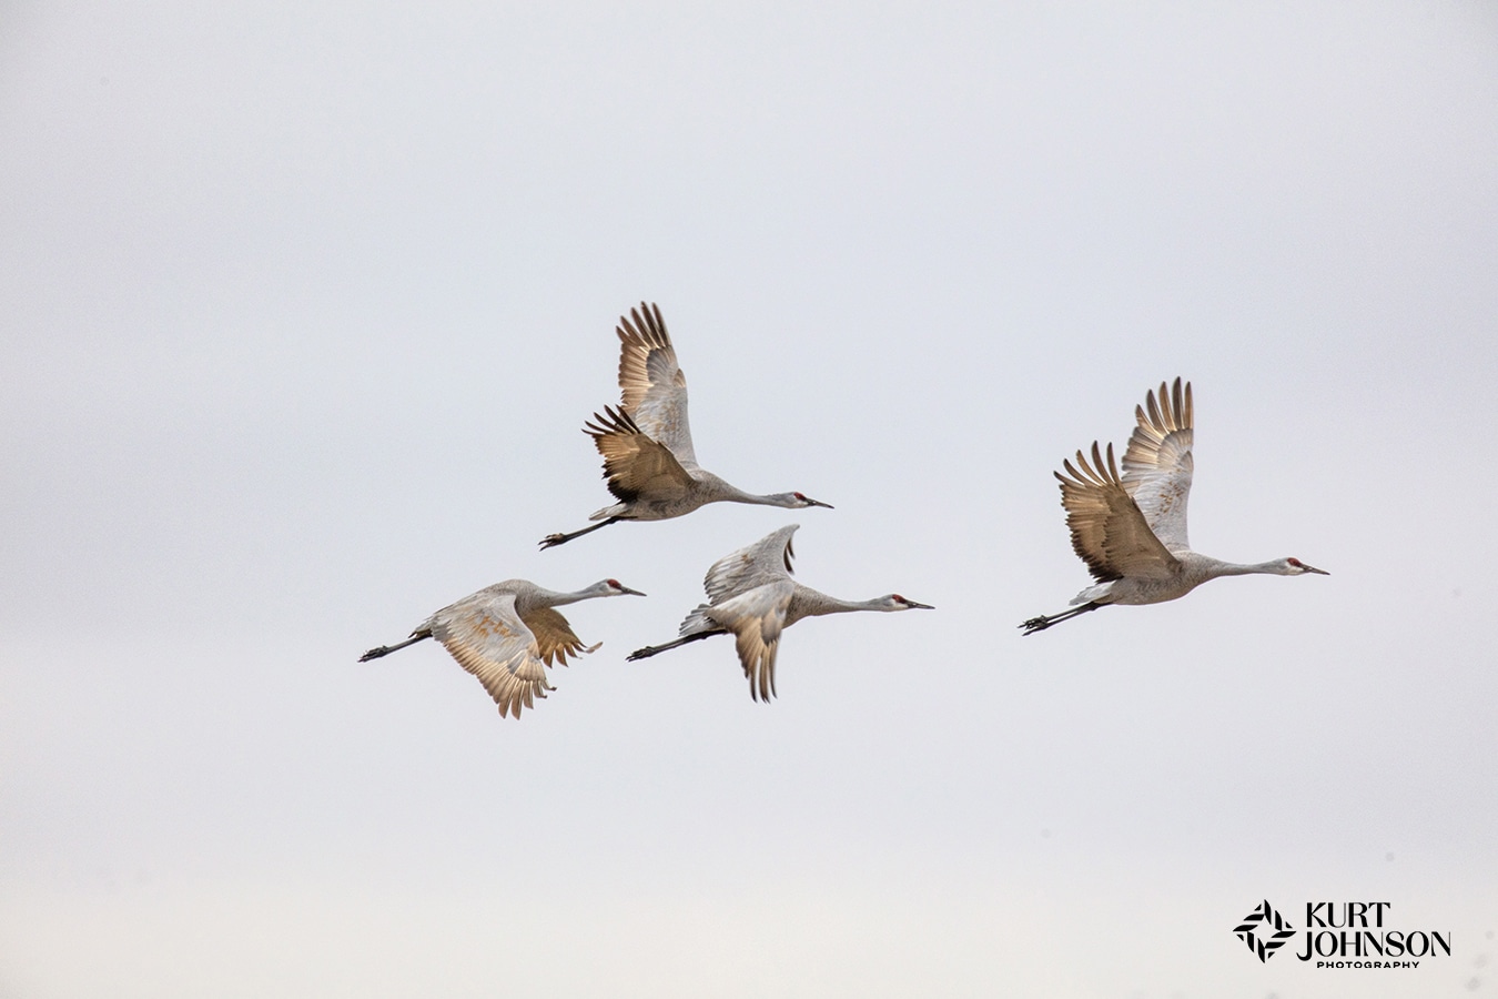
M 631 322 L 631 319 L 634 322 Z M 619 389 L 625 412 L 688 469 L 698 467 L 686 422 L 686 376 L 658 306 L 640 303 L 619 318 Z

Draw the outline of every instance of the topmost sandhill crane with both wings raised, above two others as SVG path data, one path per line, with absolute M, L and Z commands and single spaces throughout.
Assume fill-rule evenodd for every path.
M 761 506 L 827 506 L 804 493 L 758 496 L 730 485 L 697 464 L 692 430 L 686 424 L 686 376 L 676 362 L 676 347 L 665 331 L 661 309 L 640 303 L 634 318 L 619 318 L 619 409 L 604 407 L 583 431 L 604 455 L 604 478 L 619 502 L 593 512 L 589 520 L 602 523 L 569 535 L 547 535 L 542 548 L 562 545 L 574 538 L 622 520 L 670 520 L 698 506 L 728 500 Z

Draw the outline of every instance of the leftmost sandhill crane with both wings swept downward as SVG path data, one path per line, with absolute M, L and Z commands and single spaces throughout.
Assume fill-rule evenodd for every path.
M 388 656 L 397 649 L 436 638 L 464 669 L 478 677 L 499 705 L 500 717 L 520 717 L 521 707 L 535 707 L 533 698 L 554 690 L 547 683 L 553 661 L 568 665 L 568 656 L 593 652 L 572 634 L 554 607 L 598 596 L 644 596 L 619 580 L 602 580 L 577 593 L 557 593 L 529 580 L 506 580 L 464 596 L 416 625 L 410 638 L 394 646 L 370 649 L 360 662 Z M 602 644 L 602 643 L 599 643 Z

